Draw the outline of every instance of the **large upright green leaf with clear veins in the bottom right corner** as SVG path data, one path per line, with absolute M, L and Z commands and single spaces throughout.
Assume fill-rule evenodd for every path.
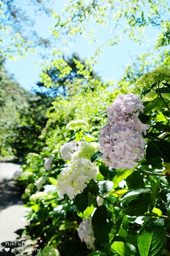
M 140 256 L 160 256 L 164 253 L 166 235 L 163 219 L 150 218 L 138 235 Z

